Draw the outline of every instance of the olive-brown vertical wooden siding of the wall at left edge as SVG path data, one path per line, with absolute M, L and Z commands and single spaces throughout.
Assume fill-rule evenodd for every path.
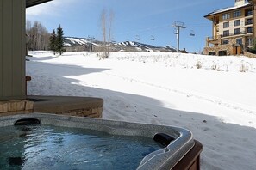
M 25 97 L 25 0 L 0 0 L 0 100 Z

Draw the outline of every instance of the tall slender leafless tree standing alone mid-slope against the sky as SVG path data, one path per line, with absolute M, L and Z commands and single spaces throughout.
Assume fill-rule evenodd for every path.
M 101 28 L 103 33 L 103 57 L 109 58 L 109 45 L 110 40 L 112 39 L 112 24 L 114 19 L 114 13 L 112 10 L 109 12 L 106 9 L 103 9 L 101 14 Z

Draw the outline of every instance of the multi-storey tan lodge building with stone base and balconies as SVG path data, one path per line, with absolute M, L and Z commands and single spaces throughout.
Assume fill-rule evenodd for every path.
M 206 55 L 240 55 L 253 46 L 256 0 L 234 0 L 234 7 L 215 10 L 204 17 L 212 21 L 212 36 L 207 37 Z

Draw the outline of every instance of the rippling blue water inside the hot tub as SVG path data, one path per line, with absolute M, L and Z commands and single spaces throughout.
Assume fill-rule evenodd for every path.
M 0 129 L 0 169 L 136 169 L 161 149 L 149 137 L 52 125 Z

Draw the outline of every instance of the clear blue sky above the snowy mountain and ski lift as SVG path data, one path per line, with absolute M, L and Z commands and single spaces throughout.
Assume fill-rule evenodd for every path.
M 183 21 L 180 48 L 199 52 L 211 36 L 211 22 L 203 16 L 215 9 L 234 6 L 234 0 L 53 0 L 27 9 L 27 20 L 41 21 L 49 32 L 59 24 L 65 36 L 89 35 L 102 39 L 100 15 L 112 10 L 113 37 L 116 42 L 135 40 L 155 46 L 176 46 L 174 21 Z M 196 34 L 190 36 L 190 32 Z M 150 40 L 151 37 L 155 40 Z

